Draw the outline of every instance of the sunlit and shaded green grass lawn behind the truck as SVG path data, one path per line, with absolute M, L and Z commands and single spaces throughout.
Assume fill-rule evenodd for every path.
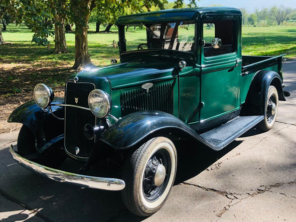
M 103 30 L 104 27 L 101 27 Z M 95 65 L 110 64 L 110 60 L 119 60 L 119 49 L 113 48 L 112 41 L 118 41 L 117 29 L 112 33 L 94 33 L 95 24 L 90 25 L 88 46 L 91 60 Z M 296 58 L 296 26 L 243 27 L 243 55 L 275 56 L 287 54 L 286 58 Z M 32 91 L 37 82 L 55 87 L 64 86 L 75 60 L 75 36 L 67 33 L 68 54 L 51 54 L 48 50 L 32 44 L 32 33 L 25 26 L 9 25 L 3 32 L 7 44 L 0 46 L 0 95 L 9 97 L 15 93 Z M 143 43 L 143 30 L 129 28 L 126 39 L 132 46 Z M 127 43 L 129 44 L 129 43 Z M 1 99 L 1 98 L 0 98 Z

